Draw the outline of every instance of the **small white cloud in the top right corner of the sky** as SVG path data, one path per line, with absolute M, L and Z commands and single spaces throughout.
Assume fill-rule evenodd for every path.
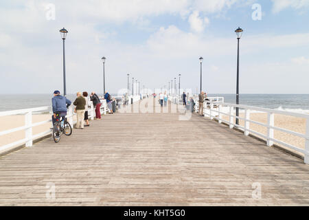
M 309 0 L 271 0 L 273 1 L 273 13 L 281 12 L 286 8 L 300 10 L 309 7 Z

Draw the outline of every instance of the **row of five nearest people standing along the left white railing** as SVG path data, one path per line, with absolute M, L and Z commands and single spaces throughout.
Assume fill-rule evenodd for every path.
M 84 126 L 90 126 L 89 124 L 89 107 L 91 101 L 93 102 L 93 107 L 95 108 L 95 120 L 102 120 L 100 107 L 102 102 L 95 92 L 91 92 L 91 96 L 88 96 L 88 92 L 78 92 L 76 94 L 77 98 L 74 100 L 73 105 L 74 112 L 76 113 L 76 129 L 84 129 Z M 110 113 L 113 113 L 112 108 L 112 98 L 108 92 L 105 92 L 104 99 L 108 104 L 108 109 Z M 60 96 L 60 91 L 54 91 L 54 98 L 52 98 L 52 110 L 54 115 L 52 115 L 53 124 L 56 122 L 56 113 L 60 117 L 65 117 L 67 115 L 67 108 L 71 105 L 71 101 L 68 100 L 65 96 Z

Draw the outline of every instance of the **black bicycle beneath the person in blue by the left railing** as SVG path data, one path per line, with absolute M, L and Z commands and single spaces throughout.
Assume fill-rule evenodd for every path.
M 72 134 L 72 127 L 71 124 L 67 121 L 67 118 L 60 117 L 59 113 L 56 113 L 56 122 L 53 127 L 53 138 L 54 142 L 60 142 L 60 137 L 62 134 L 69 136 Z

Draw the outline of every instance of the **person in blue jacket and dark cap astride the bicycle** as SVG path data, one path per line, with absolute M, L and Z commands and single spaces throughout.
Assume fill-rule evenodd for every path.
M 52 122 L 53 125 L 56 123 L 56 113 L 59 113 L 60 117 L 65 117 L 67 115 L 67 108 L 71 105 L 71 101 L 65 98 L 65 96 L 60 96 L 60 91 L 54 91 L 54 97 L 52 98 Z

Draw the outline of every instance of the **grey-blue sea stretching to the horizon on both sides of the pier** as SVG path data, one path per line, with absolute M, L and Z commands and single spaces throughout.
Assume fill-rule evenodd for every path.
M 98 94 L 102 96 L 102 94 Z M 111 94 L 111 96 L 117 96 Z M 235 94 L 208 94 L 209 97 L 224 97 L 227 103 L 236 103 Z M 51 94 L 1 94 L 0 111 L 29 109 L 34 107 L 50 106 Z M 73 101 L 76 94 L 68 94 L 67 98 Z M 309 94 L 240 94 L 240 104 L 266 109 L 309 113 Z

